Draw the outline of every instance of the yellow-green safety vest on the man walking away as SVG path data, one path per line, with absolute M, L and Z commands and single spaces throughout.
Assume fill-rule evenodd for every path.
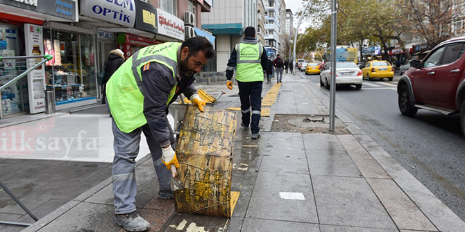
M 236 45 L 236 52 L 236 80 L 240 82 L 263 81 L 262 44 L 242 42 Z

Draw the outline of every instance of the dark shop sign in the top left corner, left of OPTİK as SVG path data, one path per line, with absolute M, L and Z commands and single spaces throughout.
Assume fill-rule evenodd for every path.
M 1 4 L 77 21 L 76 0 L 0 0 Z

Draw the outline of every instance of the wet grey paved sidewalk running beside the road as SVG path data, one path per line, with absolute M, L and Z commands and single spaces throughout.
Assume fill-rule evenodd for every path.
M 329 114 L 329 99 L 308 78 L 284 76 L 271 116 L 260 122 L 261 139 L 238 127 L 232 190 L 240 195 L 230 219 L 174 214 L 172 200 L 156 198 L 151 156 L 140 158 L 137 207 L 150 231 L 464 231 L 457 215 L 339 111 L 335 134 L 326 123 L 303 123 Z M 273 84 L 264 82 L 263 96 Z M 212 96 L 226 89 L 201 88 Z M 237 85 L 216 107 L 239 107 L 235 94 Z M 112 222 L 111 189 L 109 177 L 24 231 L 124 231 Z

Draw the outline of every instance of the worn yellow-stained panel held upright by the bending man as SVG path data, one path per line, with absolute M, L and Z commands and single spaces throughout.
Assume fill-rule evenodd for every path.
M 175 191 L 177 213 L 230 217 L 236 123 L 237 112 L 187 107 L 176 147 L 185 186 Z

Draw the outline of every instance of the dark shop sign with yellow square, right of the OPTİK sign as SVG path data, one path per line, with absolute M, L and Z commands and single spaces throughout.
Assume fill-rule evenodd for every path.
M 158 34 L 157 8 L 149 3 L 136 1 L 136 17 L 134 28 Z

